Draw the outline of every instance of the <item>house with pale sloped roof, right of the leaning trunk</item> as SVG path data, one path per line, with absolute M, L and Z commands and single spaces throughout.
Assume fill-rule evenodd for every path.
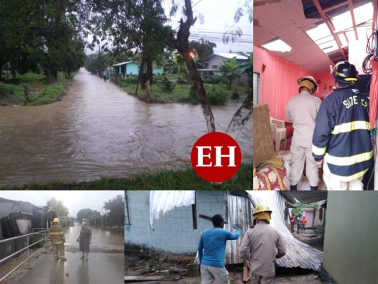
M 221 75 L 218 67 L 223 65 L 224 61 L 229 62 L 233 58 L 236 58 L 238 64 L 248 62 L 248 57 L 238 53 L 213 53 L 199 60 L 202 67 L 198 71 L 200 75 Z

